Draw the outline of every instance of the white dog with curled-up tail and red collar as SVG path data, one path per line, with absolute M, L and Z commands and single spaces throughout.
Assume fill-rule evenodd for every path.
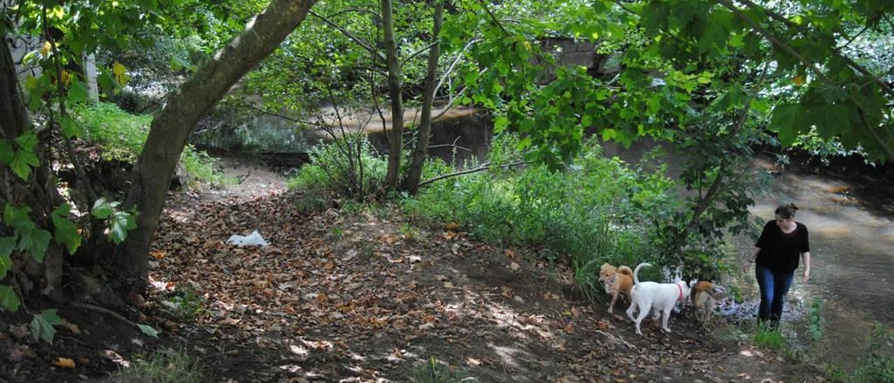
M 639 268 L 644 266 L 652 266 L 648 263 L 641 263 L 633 270 L 633 289 L 630 291 L 630 308 L 627 309 L 627 316 L 630 320 L 637 322 L 637 334 L 643 335 L 639 330 L 639 323 L 649 315 L 649 310 L 655 311 L 655 319 L 658 318 L 658 312 L 662 313 L 662 330 L 670 333 L 668 328 L 668 318 L 671 317 L 671 310 L 677 302 L 686 302 L 689 299 L 689 286 L 686 282 L 678 280 L 672 284 L 659 284 L 656 282 L 639 282 Z M 633 319 L 633 311 L 639 309 L 637 319 Z

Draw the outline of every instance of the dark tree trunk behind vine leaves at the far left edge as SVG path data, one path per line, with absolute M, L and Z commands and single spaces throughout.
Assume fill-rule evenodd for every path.
M 14 140 L 30 128 L 28 110 L 21 100 L 13 55 L 4 43 L 0 46 L 0 139 L 7 140 L 13 146 L 16 145 L 13 143 Z M 25 204 L 31 209 L 31 220 L 52 233 L 53 229 L 48 227 L 52 225 L 49 219 L 50 213 L 63 200 L 56 190 L 55 177 L 50 171 L 48 140 L 50 140 L 48 134 L 38 136 L 35 151 L 40 164 L 31 169 L 28 180 L 23 180 L 14 174 L 9 166 L 0 165 L 0 209 L 4 209 L 7 202 Z M 5 233 L 6 230 L 8 228 L 0 222 L 0 235 L 11 234 Z M 25 263 L 26 266 L 25 275 L 19 277 L 29 278 L 27 281 L 19 281 L 24 294 L 31 293 L 28 291 L 30 286 L 56 302 L 63 300 L 63 249 L 57 243 L 50 241 L 41 263 L 30 258 L 13 259 L 16 260 Z

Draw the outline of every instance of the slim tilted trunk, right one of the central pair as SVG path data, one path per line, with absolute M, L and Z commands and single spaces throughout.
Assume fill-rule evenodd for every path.
M 432 26 L 433 44 L 428 51 L 428 72 L 426 72 L 426 85 L 422 95 L 422 118 L 416 137 L 416 149 L 413 150 L 407 180 L 404 187 L 410 194 L 416 194 L 419 190 L 419 179 L 422 177 L 422 165 L 428 156 L 428 139 L 432 131 L 432 104 L 434 104 L 434 85 L 437 82 L 438 58 L 441 56 L 441 44 L 438 42 L 441 34 L 441 24 L 444 18 L 444 0 L 435 0 L 434 25 Z

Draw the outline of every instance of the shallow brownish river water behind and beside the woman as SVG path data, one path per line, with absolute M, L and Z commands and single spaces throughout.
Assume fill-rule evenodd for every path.
M 856 186 L 833 177 L 783 172 L 751 209 L 769 220 L 780 204 L 794 202 L 800 208 L 796 220 L 810 232 L 811 278 L 801 283 L 802 265 L 789 301 L 795 307 L 814 297 L 825 301 L 825 359 L 845 364 L 864 356 L 874 323 L 894 326 L 894 219 L 881 213 L 887 209 L 873 209 L 855 197 L 850 191 Z M 890 203 L 894 195 L 881 200 Z M 742 251 L 744 256 L 750 249 Z

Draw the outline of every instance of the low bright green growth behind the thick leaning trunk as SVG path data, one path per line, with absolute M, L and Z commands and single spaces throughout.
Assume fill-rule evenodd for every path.
M 99 154 L 106 161 L 134 163 L 149 135 L 151 115 L 131 115 L 108 103 L 77 106 L 73 115 L 84 127 L 84 139 L 97 143 Z M 206 152 L 187 145 L 181 154 L 186 172 L 197 181 L 232 184 L 215 170 L 215 160 Z

